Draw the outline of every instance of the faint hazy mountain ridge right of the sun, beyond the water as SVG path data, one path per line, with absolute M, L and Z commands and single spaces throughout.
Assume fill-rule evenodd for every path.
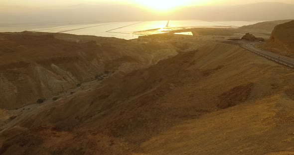
M 189 17 L 202 20 L 282 20 L 294 18 L 294 4 L 261 2 L 233 6 L 198 6 L 185 8 L 181 12 L 187 16 L 193 12 L 197 13 Z

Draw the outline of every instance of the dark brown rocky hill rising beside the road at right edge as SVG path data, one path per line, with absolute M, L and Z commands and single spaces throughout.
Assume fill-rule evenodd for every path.
M 294 58 L 294 20 L 276 26 L 271 38 L 260 47 Z

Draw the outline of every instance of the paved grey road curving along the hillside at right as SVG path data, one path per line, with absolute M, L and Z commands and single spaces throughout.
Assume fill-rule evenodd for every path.
M 265 58 L 268 58 L 270 60 L 276 61 L 278 63 L 284 64 L 286 66 L 292 67 L 294 68 L 294 59 L 285 57 L 285 56 L 281 56 L 279 54 L 275 54 L 266 50 L 261 50 L 255 47 L 255 45 L 260 44 L 260 43 L 256 43 L 256 42 L 245 42 L 242 41 L 240 42 L 240 46 L 246 50 L 249 50 L 255 54 L 261 55 Z

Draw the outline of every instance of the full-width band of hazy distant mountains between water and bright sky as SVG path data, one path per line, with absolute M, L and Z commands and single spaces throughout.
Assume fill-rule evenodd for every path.
M 0 6 L 0 25 L 44 24 L 90 21 L 147 21 L 147 20 L 282 20 L 294 19 L 294 4 L 262 2 L 233 6 L 191 6 L 169 13 L 151 12 L 135 5 L 80 4 L 64 8 L 40 9 L 11 6 L 5 11 Z M 15 15 L 17 14 L 17 15 Z

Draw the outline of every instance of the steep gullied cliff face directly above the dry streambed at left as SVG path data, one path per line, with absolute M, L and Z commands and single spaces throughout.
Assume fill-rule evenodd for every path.
M 0 107 L 11 109 L 35 103 L 38 98 L 57 95 L 104 72 L 101 66 L 86 61 L 75 62 L 68 69 L 63 67 L 65 65 L 51 64 L 47 67 L 31 63 L 1 70 Z

